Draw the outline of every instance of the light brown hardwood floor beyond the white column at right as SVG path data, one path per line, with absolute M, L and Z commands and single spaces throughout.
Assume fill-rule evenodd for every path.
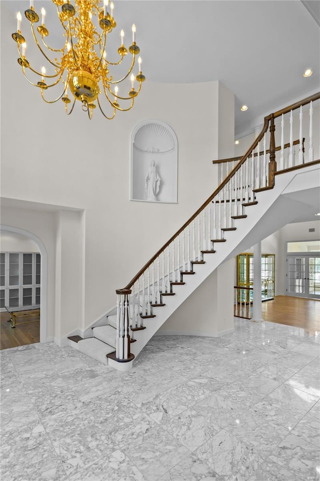
M 250 315 L 252 315 L 252 307 L 250 307 Z M 262 319 L 301 327 L 314 335 L 315 331 L 320 331 L 320 300 L 275 296 L 272 301 L 262 302 Z

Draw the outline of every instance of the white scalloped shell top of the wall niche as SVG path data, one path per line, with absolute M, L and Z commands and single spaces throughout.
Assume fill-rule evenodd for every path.
M 133 136 L 133 146 L 142 152 L 165 153 L 176 148 L 176 139 L 171 129 L 158 121 L 142 122 Z

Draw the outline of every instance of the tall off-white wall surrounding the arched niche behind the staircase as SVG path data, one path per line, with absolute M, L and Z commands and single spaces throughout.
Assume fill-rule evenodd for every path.
M 23 79 L 16 63 L 16 46 L 7 42 L 14 22 L 2 9 L 1 68 L 6 74 L 1 79 L 1 195 L 9 199 L 6 205 L 10 199 L 18 199 L 36 202 L 42 209 L 55 205 L 57 211 L 76 208 L 85 212 L 82 247 L 76 248 L 77 254 L 70 247 L 68 251 L 77 256 L 79 265 L 84 262 L 78 269 L 83 273 L 83 285 L 72 295 L 75 312 L 82 306 L 80 322 L 84 327 L 115 305 L 115 289 L 124 287 L 215 189 L 216 170 L 211 160 L 218 156 L 219 112 L 226 122 L 230 101 L 225 105 L 218 82 L 171 85 L 146 81 L 132 111 L 119 112 L 113 121 L 97 111 L 89 121 L 80 105 L 68 117 L 62 102 L 44 104 L 38 90 Z M 14 95 L 7 95 L 11 91 Z M 177 204 L 129 201 L 130 133 L 147 119 L 166 122 L 177 135 Z M 232 115 L 229 122 L 233 128 Z M 23 224 L 34 233 L 42 232 L 43 214 L 23 209 L 27 214 L 23 216 L 22 210 L 8 213 L 7 209 L 3 207 L 2 215 L 9 225 Z M 28 216 L 34 219 L 32 226 L 27 225 Z M 49 293 L 53 300 L 54 289 L 66 285 L 68 272 L 63 262 L 55 263 L 55 256 L 62 255 L 60 248 L 64 249 L 58 245 L 56 219 L 51 227 L 47 249 L 53 270 Z M 59 304 L 61 299 L 56 299 Z M 50 318 L 56 316 L 55 337 L 76 327 L 74 317 L 65 315 L 62 322 L 61 313 L 58 320 L 54 300 L 50 306 Z

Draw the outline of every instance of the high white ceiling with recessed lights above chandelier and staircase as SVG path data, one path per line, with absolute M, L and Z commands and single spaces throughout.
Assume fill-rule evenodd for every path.
M 54 5 L 49 0 L 34 5 L 38 13 L 45 7 L 54 38 Z M 118 27 L 112 36 L 117 45 L 123 28 L 128 40 L 135 23 L 147 80 L 221 81 L 235 94 L 240 137 L 264 115 L 318 90 L 319 5 L 312 0 L 114 0 Z M 15 31 L 15 14 L 24 12 L 28 1 L 2 0 L 1 6 L 2 21 L 12 22 Z M 302 76 L 306 68 L 313 70 L 309 78 Z M 205 102 L 201 93 L 199 100 Z M 240 111 L 242 104 L 246 112 Z

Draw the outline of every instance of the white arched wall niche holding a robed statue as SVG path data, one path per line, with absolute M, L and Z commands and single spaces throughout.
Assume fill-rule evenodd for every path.
M 140 122 L 131 135 L 131 200 L 177 202 L 177 138 L 159 120 Z

